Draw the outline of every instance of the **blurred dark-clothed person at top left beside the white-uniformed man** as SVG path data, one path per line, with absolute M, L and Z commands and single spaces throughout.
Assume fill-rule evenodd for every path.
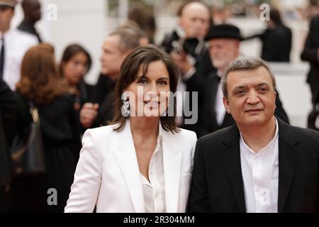
M 39 0 L 23 0 L 22 9 L 24 13 L 23 21 L 18 26 L 18 30 L 35 35 L 39 43 L 42 43 L 38 31 L 35 29 L 35 23 L 41 19 L 41 4 Z

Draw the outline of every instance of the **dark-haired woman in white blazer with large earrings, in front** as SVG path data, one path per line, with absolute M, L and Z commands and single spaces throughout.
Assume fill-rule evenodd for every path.
M 177 70 L 155 46 L 121 65 L 111 125 L 84 133 L 65 212 L 184 212 L 196 134 L 177 128 Z

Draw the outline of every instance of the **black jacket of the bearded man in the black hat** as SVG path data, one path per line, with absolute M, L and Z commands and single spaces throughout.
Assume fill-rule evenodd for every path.
M 216 72 L 211 73 L 208 76 L 208 79 L 205 82 L 205 95 L 204 95 L 204 104 L 205 108 L 203 109 L 203 123 L 202 128 L 206 128 L 206 133 L 212 133 L 221 128 L 225 128 L 233 125 L 235 123 L 233 117 L 226 112 L 225 117 L 223 119 L 223 123 L 218 125 L 216 120 L 216 95 L 218 89 L 218 76 Z M 289 118 L 284 110 L 281 100 L 279 98 L 279 93 L 276 91 L 276 110 L 275 115 L 281 118 L 281 120 L 289 123 Z

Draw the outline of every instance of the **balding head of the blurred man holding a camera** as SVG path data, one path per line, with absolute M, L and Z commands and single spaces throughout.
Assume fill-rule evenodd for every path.
M 182 6 L 179 24 L 188 38 L 204 38 L 211 21 L 211 12 L 201 2 L 190 2 Z

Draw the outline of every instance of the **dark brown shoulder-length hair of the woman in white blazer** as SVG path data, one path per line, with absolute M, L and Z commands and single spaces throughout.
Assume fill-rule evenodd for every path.
M 169 87 L 170 92 L 176 92 L 177 81 L 178 81 L 178 71 L 177 67 L 174 65 L 172 58 L 159 48 L 154 45 L 141 46 L 135 48 L 128 56 L 125 57 L 122 65 L 120 76 L 116 82 L 116 88 L 114 91 L 115 106 L 113 120 L 109 124 L 118 124 L 114 131 L 121 131 L 125 126 L 126 118 L 122 114 L 121 100 L 122 94 L 127 89 L 130 84 L 135 82 L 138 77 L 138 72 L 140 67 L 142 67 L 142 72 L 144 75 L 147 74 L 148 65 L 151 62 L 161 61 L 167 67 L 167 72 L 169 72 Z M 176 118 L 176 100 L 172 101 L 174 107 L 174 116 L 160 116 L 160 121 L 162 123 L 162 128 L 165 131 L 171 131 L 172 133 L 178 133 L 180 130 L 177 128 L 175 123 Z M 170 107 L 172 108 L 172 107 Z

